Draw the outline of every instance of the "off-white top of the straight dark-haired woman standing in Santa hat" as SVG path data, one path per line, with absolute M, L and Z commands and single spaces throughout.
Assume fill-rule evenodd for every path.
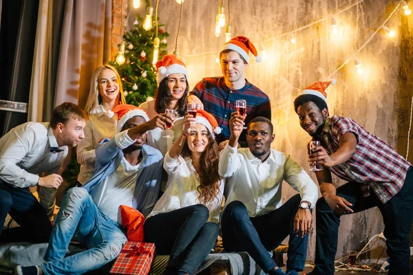
M 155 100 L 143 102 L 139 105 L 139 108 L 144 110 L 149 119 L 156 117 L 158 113 L 155 110 Z M 147 144 L 153 148 L 158 149 L 162 155 L 165 155 L 167 151 L 171 148 L 173 142 L 180 136 L 182 133 L 182 127 L 184 126 L 184 118 L 178 117 L 173 121 L 171 127 L 171 136 L 172 138 L 167 138 L 167 130 L 161 130 L 160 128 L 147 131 Z

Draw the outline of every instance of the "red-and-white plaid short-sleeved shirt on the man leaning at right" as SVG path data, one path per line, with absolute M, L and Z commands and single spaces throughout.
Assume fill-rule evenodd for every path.
M 356 151 L 347 162 L 328 168 L 341 179 L 361 184 L 364 197 L 370 189 L 385 203 L 403 187 L 407 169 L 412 165 L 396 150 L 379 137 L 368 133 L 351 118 L 337 115 L 327 118 L 321 135 L 329 154 L 339 148 L 339 140 L 345 133 L 357 138 Z

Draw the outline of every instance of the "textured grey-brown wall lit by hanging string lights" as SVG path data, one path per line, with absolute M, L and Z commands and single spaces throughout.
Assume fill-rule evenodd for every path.
M 155 6 L 155 1 L 153 6 Z M 273 148 L 292 155 L 308 170 L 306 144 L 310 137 L 299 127 L 293 109 L 293 100 L 301 89 L 327 76 L 350 58 L 354 52 L 377 30 L 388 17 L 397 1 L 363 1 L 353 8 L 335 15 L 339 34 L 331 37 L 332 14 L 356 1 L 344 0 L 232 0 L 231 25 L 233 36 L 244 35 L 261 51 L 264 44 L 269 59 L 263 63 L 252 62 L 246 78 L 260 87 L 271 98 L 276 140 Z M 227 1 L 226 19 L 228 20 Z M 413 8 L 413 7 L 412 7 Z M 180 5 L 175 1 L 160 1 L 159 17 L 165 23 L 169 53 L 175 46 Z M 202 77 L 221 75 L 215 62 L 218 50 L 224 43 L 224 30 L 219 38 L 214 35 L 215 14 L 218 1 L 186 0 L 182 10 L 178 51 L 189 69 L 189 83 L 193 87 Z M 290 35 L 271 39 L 284 32 L 327 17 L 326 21 L 312 25 L 295 34 L 297 43 L 290 43 Z M 399 32 L 404 14 L 398 10 L 388 22 L 388 27 Z M 271 39 L 271 40 L 270 40 Z M 396 145 L 397 119 L 394 98 L 398 89 L 399 35 L 388 39 L 379 31 L 358 55 L 364 69 L 359 75 L 350 61 L 333 77 L 337 85 L 328 89 L 330 114 L 353 118 L 370 133 Z M 407 98 L 410 100 L 410 98 Z M 410 111 L 410 106 L 409 110 Z M 408 113 L 405 113 L 408 114 Z M 408 124 L 407 124 L 408 126 Z M 404 149 L 405 150 L 405 149 Z M 405 151 L 400 152 L 405 155 Z M 317 182 L 315 176 L 311 177 Z M 343 182 L 335 181 L 337 185 Z M 295 191 L 284 184 L 283 199 Z M 313 214 L 315 219 L 315 214 Z M 313 220 L 313 225 L 315 225 Z M 381 214 L 376 208 L 342 217 L 337 258 L 350 250 L 361 249 L 370 236 L 383 230 Z M 380 242 L 379 242 L 380 243 Z M 381 252 L 377 250 L 373 253 Z M 310 234 L 308 260 L 315 254 L 315 230 Z M 378 255 L 376 255 L 378 256 Z

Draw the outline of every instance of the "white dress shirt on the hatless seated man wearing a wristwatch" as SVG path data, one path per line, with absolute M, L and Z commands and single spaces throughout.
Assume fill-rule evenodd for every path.
M 241 201 L 250 217 L 260 216 L 282 206 L 282 181 L 299 192 L 301 201 L 315 206 L 318 188 L 306 171 L 290 156 L 270 149 L 265 162 L 249 148 L 232 148 L 228 144 L 220 153 L 219 173 L 226 178 L 225 197 Z

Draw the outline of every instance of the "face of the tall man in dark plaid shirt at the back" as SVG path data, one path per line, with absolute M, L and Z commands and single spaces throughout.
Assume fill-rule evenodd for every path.
M 222 52 L 220 63 L 225 80 L 231 83 L 244 81 L 248 63 L 244 63 L 240 54 L 235 51 Z

